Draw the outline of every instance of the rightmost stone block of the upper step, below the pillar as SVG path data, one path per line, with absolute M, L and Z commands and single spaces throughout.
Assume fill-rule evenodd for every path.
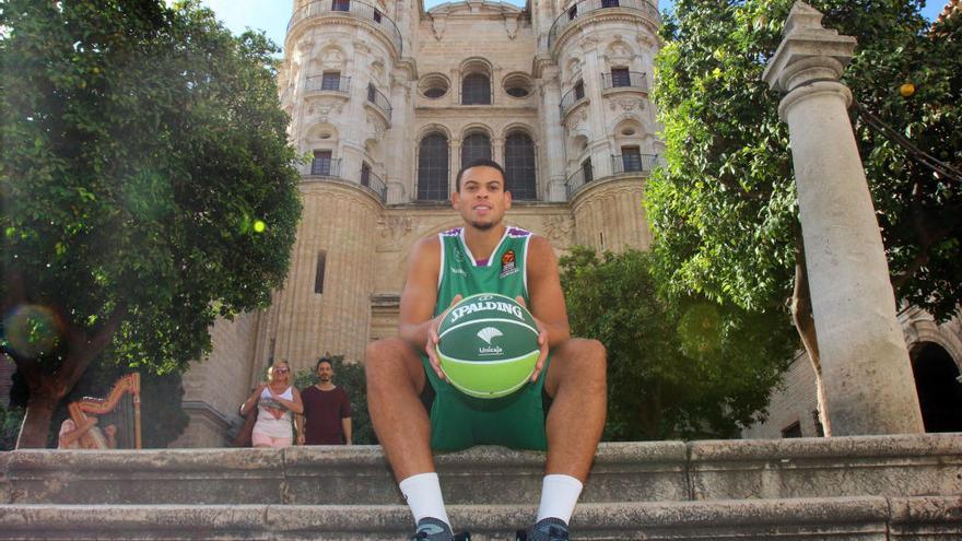
M 962 494 L 962 435 L 697 442 L 694 499 Z

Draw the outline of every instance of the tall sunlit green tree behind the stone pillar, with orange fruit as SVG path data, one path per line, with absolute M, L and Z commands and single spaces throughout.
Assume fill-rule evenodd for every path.
M 658 272 L 672 291 L 752 309 L 788 304 L 820 373 L 782 96 L 761 81 L 791 3 L 676 2 L 656 60 L 668 166 L 650 179 L 646 204 Z M 825 27 L 858 38 L 844 82 L 860 104 L 856 139 L 896 297 L 950 317 L 962 293 L 960 179 L 934 174 L 866 119 L 881 119 L 958 175 L 962 17 L 930 27 L 918 1 L 810 3 Z

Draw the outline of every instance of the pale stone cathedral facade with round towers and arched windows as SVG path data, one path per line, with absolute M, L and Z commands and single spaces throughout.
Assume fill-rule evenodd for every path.
M 214 326 L 175 445 L 224 445 L 274 360 L 363 362 L 395 336 L 407 255 L 460 223 L 448 198 L 476 158 L 507 172 L 506 221 L 559 254 L 647 249 L 659 24 L 657 0 L 295 0 L 278 78 L 305 156 L 291 269 L 269 309 Z

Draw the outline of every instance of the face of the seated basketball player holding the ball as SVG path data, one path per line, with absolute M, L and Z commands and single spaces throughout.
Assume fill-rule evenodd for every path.
M 461 175 L 461 189 L 451 195 L 451 203 L 465 222 L 485 231 L 500 224 L 511 209 L 511 192 L 504 190 L 500 170 L 479 165 Z

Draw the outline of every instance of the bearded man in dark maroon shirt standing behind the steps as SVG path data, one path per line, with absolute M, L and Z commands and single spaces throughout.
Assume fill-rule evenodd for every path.
M 320 357 L 315 367 L 317 385 L 301 391 L 304 402 L 304 430 L 297 435 L 300 445 L 351 445 L 351 400 L 348 392 L 335 386 L 335 367 L 330 358 Z

